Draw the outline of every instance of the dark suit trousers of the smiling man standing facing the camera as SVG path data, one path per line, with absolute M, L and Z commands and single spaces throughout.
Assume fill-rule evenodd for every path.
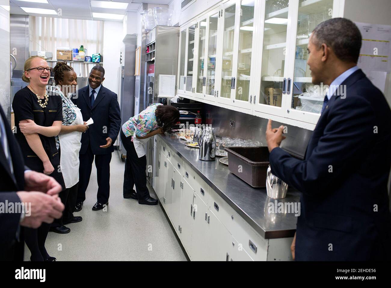
M 95 156 L 95 167 L 97 168 L 98 194 L 97 202 L 106 204 L 110 196 L 110 161 L 111 153 L 94 155 L 91 146 L 88 145 L 84 154 L 79 154 L 79 187 L 77 188 L 77 203 L 86 199 L 86 190 L 90 182 L 92 162 Z

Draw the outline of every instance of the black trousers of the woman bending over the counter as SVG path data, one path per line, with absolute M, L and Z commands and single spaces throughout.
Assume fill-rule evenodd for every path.
M 121 141 L 126 150 L 125 172 L 124 172 L 124 194 L 131 193 L 136 185 L 138 199 L 150 197 L 147 188 L 147 156 L 138 158 L 135 145 L 131 141 L 131 136 L 126 137 L 121 130 Z

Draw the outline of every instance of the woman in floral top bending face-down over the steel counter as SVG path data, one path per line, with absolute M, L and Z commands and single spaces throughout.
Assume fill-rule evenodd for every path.
M 124 198 L 137 199 L 139 204 L 158 204 L 147 188 L 145 143 L 150 137 L 170 130 L 178 121 L 179 110 L 176 107 L 157 103 L 122 125 L 121 141 L 126 149 Z M 134 185 L 137 192 L 133 190 Z

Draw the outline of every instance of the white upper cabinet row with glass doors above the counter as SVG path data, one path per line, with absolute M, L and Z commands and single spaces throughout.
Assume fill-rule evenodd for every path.
M 323 97 L 311 83 L 308 39 L 317 24 L 343 17 L 343 5 L 222 1 L 181 29 L 178 94 L 313 129 Z

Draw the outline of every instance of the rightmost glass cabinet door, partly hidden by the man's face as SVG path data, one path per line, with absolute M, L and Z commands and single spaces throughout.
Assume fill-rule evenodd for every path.
M 307 65 L 307 45 L 315 27 L 333 17 L 333 0 L 296 0 L 294 5 L 298 12 L 295 15 L 297 19 L 292 19 L 293 23 L 297 21 L 297 25 L 292 25 L 291 43 L 294 43 L 295 47 L 294 55 L 290 55 L 294 59 L 289 73 L 293 76 L 293 81 L 288 83 L 287 87 L 287 106 L 291 108 L 289 118 L 316 123 L 325 96 L 323 91 L 316 89 L 319 86 L 312 84 L 311 71 Z

